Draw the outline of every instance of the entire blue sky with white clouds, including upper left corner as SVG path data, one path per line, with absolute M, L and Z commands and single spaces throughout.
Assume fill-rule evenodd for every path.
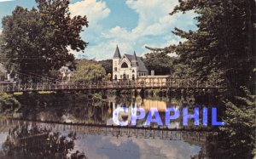
M 121 54 L 138 56 L 149 52 L 145 46 L 164 48 L 184 39 L 172 34 L 174 27 L 195 31 L 195 13 L 170 15 L 178 0 L 71 0 L 71 15 L 86 15 L 89 27 L 81 32 L 89 43 L 84 53 L 70 50 L 79 59 L 112 59 L 116 46 Z M 17 5 L 32 9 L 35 0 L 0 0 L 0 19 Z M 0 31 L 2 26 L 0 25 Z M 175 55 L 175 54 L 173 54 Z

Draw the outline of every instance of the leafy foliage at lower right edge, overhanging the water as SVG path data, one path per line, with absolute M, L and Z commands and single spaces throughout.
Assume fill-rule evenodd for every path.
M 236 150 L 230 155 L 242 157 L 245 155 L 244 151 L 249 151 L 254 153 L 247 154 L 252 157 L 256 156 L 256 96 L 252 95 L 247 88 L 241 89 L 244 92 L 243 96 L 224 101 L 226 106 L 224 122 L 226 124 L 220 129 L 228 134 L 230 150 Z

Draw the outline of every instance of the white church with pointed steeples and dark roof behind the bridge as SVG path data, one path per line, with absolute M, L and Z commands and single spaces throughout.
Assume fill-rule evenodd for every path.
M 148 76 L 148 69 L 140 57 L 134 52 L 121 56 L 117 46 L 113 54 L 113 80 L 135 80 L 137 77 Z

